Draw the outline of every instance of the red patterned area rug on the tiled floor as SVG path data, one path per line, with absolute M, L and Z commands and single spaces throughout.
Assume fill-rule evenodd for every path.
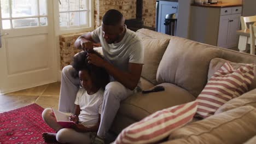
M 0 113 L 0 144 L 45 143 L 43 132 L 54 133 L 42 119 L 43 107 L 31 104 L 16 110 Z

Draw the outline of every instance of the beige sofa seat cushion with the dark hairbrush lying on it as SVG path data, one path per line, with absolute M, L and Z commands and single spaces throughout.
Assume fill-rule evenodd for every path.
M 165 91 L 136 93 L 121 102 L 112 125 L 112 131 L 115 134 L 119 134 L 132 122 L 140 121 L 151 113 L 195 100 L 188 91 L 171 83 L 161 83 L 158 86 L 164 86 Z

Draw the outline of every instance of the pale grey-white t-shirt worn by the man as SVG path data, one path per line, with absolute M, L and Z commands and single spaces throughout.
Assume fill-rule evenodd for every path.
M 96 43 L 101 43 L 104 58 L 116 68 L 128 71 L 129 63 L 143 64 L 144 49 L 141 39 L 130 29 L 126 28 L 124 38 L 117 44 L 107 43 L 101 26 L 91 32 L 91 37 Z

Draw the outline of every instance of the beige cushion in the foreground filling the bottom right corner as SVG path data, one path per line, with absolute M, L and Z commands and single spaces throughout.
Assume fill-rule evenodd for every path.
M 164 143 L 243 143 L 256 135 L 255 121 L 256 109 L 242 106 L 174 130 Z

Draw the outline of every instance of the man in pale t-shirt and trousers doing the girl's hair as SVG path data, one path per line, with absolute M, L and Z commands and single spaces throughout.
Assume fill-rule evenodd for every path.
M 120 101 L 135 93 L 143 67 L 144 49 L 141 41 L 124 25 L 124 17 L 118 10 L 108 10 L 102 25 L 91 33 L 81 35 L 74 43 L 78 49 L 91 51 L 100 43 L 104 59 L 93 53 L 88 54 L 89 63 L 105 68 L 110 75 L 110 83 L 104 91 L 100 128 L 94 143 L 104 143 L 120 106 Z M 78 91 L 79 80 L 74 79 L 72 67 L 62 70 L 59 110 L 73 111 L 73 102 Z M 73 98 L 74 97 L 74 98 Z

